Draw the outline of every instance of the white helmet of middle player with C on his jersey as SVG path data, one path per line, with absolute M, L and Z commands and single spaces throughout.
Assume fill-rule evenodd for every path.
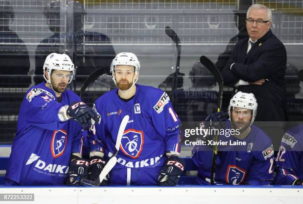
M 131 52 L 120 52 L 115 56 L 110 65 L 110 73 L 115 71 L 117 65 L 131 65 L 135 67 L 135 73 L 140 71 L 140 61 L 137 56 Z

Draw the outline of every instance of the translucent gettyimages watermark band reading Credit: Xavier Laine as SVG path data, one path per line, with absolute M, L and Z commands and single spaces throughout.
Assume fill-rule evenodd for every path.
M 269 138 L 268 143 L 273 144 L 275 151 L 283 150 L 285 146 L 289 147 L 288 151 L 303 151 L 300 145 L 303 121 L 254 121 L 251 125 L 242 123 L 235 124 L 236 126 L 229 120 L 212 124 L 209 121 L 203 123 L 204 126 L 199 121 L 182 122 L 182 146 L 190 148 L 201 146 L 204 147 L 201 150 L 205 151 L 211 150 L 215 145 L 221 151 L 245 151 L 245 149 L 247 152 L 264 151 L 263 140 Z M 244 131 L 246 127 L 252 128 L 247 135 Z M 214 138 L 216 135 L 218 140 Z

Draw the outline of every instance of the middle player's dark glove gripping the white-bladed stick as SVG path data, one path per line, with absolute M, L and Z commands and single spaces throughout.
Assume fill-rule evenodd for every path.
M 90 159 L 91 161 L 90 161 L 90 168 L 88 171 L 88 179 L 95 181 L 100 176 L 101 171 L 103 170 L 106 162 L 100 156 L 93 156 Z M 103 179 L 100 185 L 107 186 L 108 179 L 109 179 L 109 174 L 105 176 L 105 178 Z

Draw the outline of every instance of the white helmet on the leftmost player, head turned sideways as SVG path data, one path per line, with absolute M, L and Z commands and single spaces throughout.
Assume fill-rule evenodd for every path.
M 45 76 L 45 72 L 48 72 L 48 75 L 51 75 L 52 70 L 63 70 L 63 71 L 71 71 L 72 74 L 68 80 L 68 84 L 72 82 L 75 77 L 75 68 L 74 63 L 70 59 L 67 54 L 58 54 L 58 53 L 50 53 L 45 59 L 43 65 L 43 77 L 44 79 L 50 83 L 50 79 L 48 80 Z

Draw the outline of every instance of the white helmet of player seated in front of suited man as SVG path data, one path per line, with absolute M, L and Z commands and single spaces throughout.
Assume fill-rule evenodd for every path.
M 256 116 L 258 103 L 256 102 L 256 99 L 252 93 L 248 94 L 248 93 L 238 92 L 235 94 L 235 96 L 233 96 L 228 106 L 228 114 L 230 118 L 232 118 L 231 117 L 232 107 L 241 107 L 241 108 L 253 110 L 251 125 L 253 124 L 254 118 Z

